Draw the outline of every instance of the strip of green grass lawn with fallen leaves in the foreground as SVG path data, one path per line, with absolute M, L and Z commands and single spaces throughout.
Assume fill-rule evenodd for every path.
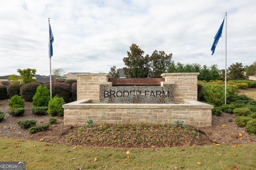
M 26 170 L 239 170 L 256 169 L 256 145 L 162 148 L 66 146 L 0 137 L 0 161 L 24 161 Z

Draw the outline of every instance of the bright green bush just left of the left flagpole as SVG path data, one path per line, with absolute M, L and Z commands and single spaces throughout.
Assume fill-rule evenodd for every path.
M 50 90 L 47 87 L 39 85 L 36 89 L 36 93 L 33 96 L 33 106 L 48 106 L 50 101 Z

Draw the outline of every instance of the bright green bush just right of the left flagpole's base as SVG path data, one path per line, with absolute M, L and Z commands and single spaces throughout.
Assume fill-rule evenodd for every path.
M 64 115 L 64 109 L 62 108 L 63 104 L 66 104 L 66 102 L 62 97 L 54 96 L 52 100 L 49 101 L 48 114 L 51 116 L 63 116 Z

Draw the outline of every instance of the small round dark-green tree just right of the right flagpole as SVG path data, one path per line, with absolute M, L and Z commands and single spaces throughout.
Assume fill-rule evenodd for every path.
M 229 71 L 228 72 L 228 76 L 232 79 L 238 79 L 238 78 L 244 78 L 244 68 L 242 63 L 236 63 L 236 64 L 232 64 L 230 65 L 230 67 L 228 67 Z

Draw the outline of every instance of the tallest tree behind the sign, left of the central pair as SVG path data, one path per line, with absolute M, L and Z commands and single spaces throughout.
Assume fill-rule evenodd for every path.
M 127 51 L 127 55 L 128 57 L 124 57 L 123 59 L 126 65 L 123 68 L 126 78 L 148 77 L 150 71 L 149 56 L 146 55 L 144 57 L 144 51 L 136 44 L 130 46 L 130 52 Z

